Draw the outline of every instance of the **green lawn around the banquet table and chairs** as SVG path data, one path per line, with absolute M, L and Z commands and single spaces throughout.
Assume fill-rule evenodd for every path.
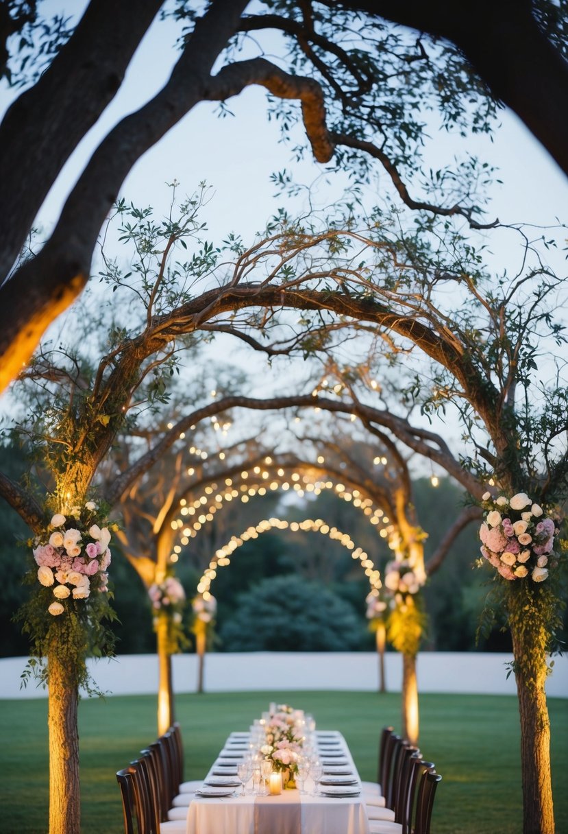
M 252 692 L 177 696 L 186 778 L 202 776 L 227 733 L 247 729 L 268 701 L 290 702 L 321 729 L 346 736 L 363 779 L 376 771 L 381 726 L 400 726 L 400 696 L 372 692 Z M 556 831 L 568 831 L 568 701 L 549 700 Z M 122 834 L 115 771 L 156 736 L 156 699 L 82 701 L 79 711 L 83 834 Z M 47 831 L 47 701 L 2 701 L 0 802 L 3 834 Z M 443 781 L 434 834 L 520 834 L 519 719 L 509 696 L 421 696 L 421 751 Z M 221 832 L 220 832 L 221 834 Z

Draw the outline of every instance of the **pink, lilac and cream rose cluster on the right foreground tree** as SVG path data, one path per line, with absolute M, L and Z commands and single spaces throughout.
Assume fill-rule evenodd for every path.
M 481 555 L 506 580 L 543 582 L 558 556 L 554 550 L 559 532 L 554 520 L 524 492 L 512 498 L 489 492 L 482 497 L 484 521 L 479 530 Z

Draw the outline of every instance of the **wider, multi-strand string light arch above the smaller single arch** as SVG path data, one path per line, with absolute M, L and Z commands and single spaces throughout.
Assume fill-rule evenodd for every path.
M 375 463 L 378 460 L 381 463 L 384 460 L 386 463 L 386 459 L 376 459 Z M 317 459 L 318 466 L 323 465 L 324 462 L 322 457 Z M 267 466 L 272 465 L 272 458 L 265 458 L 265 464 Z M 309 465 L 306 462 L 306 467 Z M 255 480 L 254 483 L 248 482 L 251 476 L 251 480 Z M 199 530 L 212 522 L 214 515 L 222 509 L 222 505 L 226 501 L 241 500 L 243 504 L 246 504 L 255 495 L 267 495 L 267 493 L 275 490 L 286 492 L 292 489 L 299 498 L 302 498 L 306 493 L 320 495 L 322 490 L 333 490 L 342 500 L 361 510 L 370 524 L 381 524 L 379 530 L 381 538 L 390 538 L 394 532 L 394 526 L 381 507 L 377 507 L 368 496 L 365 497 L 361 490 L 348 488 L 340 482 L 321 480 L 316 478 L 315 475 L 302 475 L 297 470 L 286 476 L 286 470 L 282 466 L 279 466 L 275 472 L 271 472 L 267 468 L 256 465 L 251 469 L 243 469 L 239 477 L 240 484 L 238 484 L 238 478 L 226 478 L 223 485 L 216 482 L 207 485 L 203 494 L 192 501 L 187 501 L 185 498 L 179 501 L 179 515 L 171 521 L 171 527 L 180 536 L 180 544 L 173 546 L 172 553 L 169 556 L 171 562 L 177 562 L 179 554 L 182 552 L 182 546 L 188 545 L 189 540 L 195 538 Z

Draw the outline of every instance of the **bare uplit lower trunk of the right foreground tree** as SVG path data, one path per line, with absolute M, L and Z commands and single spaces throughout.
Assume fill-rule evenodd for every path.
M 512 605 L 521 605 L 516 595 Z M 546 706 L 546 651 L 541 628 L 518 611 L 511 616 L 516 689 L 521 717 L 523 834 L 554 834 L 551 722 Z

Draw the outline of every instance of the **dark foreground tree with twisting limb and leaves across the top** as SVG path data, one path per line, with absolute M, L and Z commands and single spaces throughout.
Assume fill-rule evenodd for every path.
M 0 124 L 0 210 L 5 219 L 0 232 L 0 389 L 27 362 L 47 324 L 86 284 L 97 236 L 127 173 L 197 103 L 224 108 L 243 89 L 260 85 L 270 93 L 269 112 L 285 134 L 292 122 L 303 122 L 306 147 L 318 162 L 335 159 L 338 168 L 355 177 L 365 177 L 371 163 L 377 163 L 403 203 L 461 214 L 472 224 L 486 222 L 476 188 L 487 169 L 465 159 L 456 170 L 423 172 L 421 148 L 436 133 L 436 123 L 461 133 L 490 129 L 495 98 L 463 56 L 461 44 L 440 39 L 436 27 L 428 34 L 424 23 L 418 26 L 422 34 L 406 28 L 416 26 L 412 20 L 393 26 L 386 21 L 393 16 L 390 3 L 384 9 L 381 3 L 367 10 L 363 5 L 287 0 L 248 10 L 246 0 L 212 0 L 204 6 L 141 0 L 134 8 L 92 0 L 75 23 L 64 13 L 43 18 L 41 0 L 2 4 L 2 71 L 22 92 Z M 531 41 L 547 44 L 550 54 L 539 68 L 566 83 L 566 73 L 557 66 L 563 60 L 558 44 L 566 23 L 564 4 L 555 16 L 556 4 L 540 0 L 534 17 L 528 3 L 493 5 L 502 15 L 506 9 L 514 20 L 521 19 L 528 48 Z M 407 6 L 414 4 L 401 4 L 402 11 Z M 484 10 L 488 31 L 506 41 L 501 22 Z M 69 189 L 42 249 L 18 262 L 52 184 L 121 87 L 133 53 L 160 15 L 179 22 L 182 48 L 170 78 L 102 137 Z M 450 17 L 459 16 L 455 11 Z M 449 31 L 441 34 L 452 38 Z M 479 43 L 486 43 L 486 34 L 476 34 Z M 476 55 L 468 54 L 475 65 Z M 531 72 L 530 60 L 522 65 Z M 497 75 L 506 81 L 509 73 L 501 68 Z M 502 88 L 497 94 L 508 100 Z M 528 108 L 545 102 L 540 94 L 526 96 Z M 549 105 L 549 111 L 551 120 L 560 123 L 561 108 Z M 539 109 L 534 121 L 541 120 Z M 568 147 L 560 128 L 557 133 L 560 147 Z M 305 149 L 297 148 L 298 153 Z M 431 193 L 425 188 L 432 188 Z

